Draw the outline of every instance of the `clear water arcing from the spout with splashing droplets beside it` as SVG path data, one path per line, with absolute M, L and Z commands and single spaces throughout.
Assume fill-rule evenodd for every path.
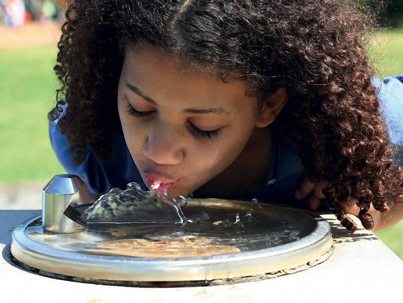
M 164 194 L 157 193 L 154 189 L 160 188 L 159 182 L 151 185 L 151 191 L 143 191 L 137 183 L 129 183 L 127 189 L 113 188 L 102 195 L 80 217 L 84 224 L 131 224 L 131 223 L 204 223 L 210 220 L 211 214 L 204 210 L 192 214 L 189 218 L 183 214 L 182 208 L 187 208 L 188 202 L 185 197 L 170 198 L 168 188 L 164 188 Z M 199 201 L 199 204 L 201 201 Z M 181 208 L 182 207 L 182 208 Z M 253 209 L 242 216 L 237 213 L 235 220 L 232 217 L 216 220 L 210 224 L 244 226 L 244 223 L 255 224 L 252 217 Z

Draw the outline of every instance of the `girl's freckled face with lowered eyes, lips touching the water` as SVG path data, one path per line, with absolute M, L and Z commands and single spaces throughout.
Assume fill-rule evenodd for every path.
M 186 196 L 233 163 L 267 125 L 245 91 L 244 81 L 224 83 L 154 46 L 127 48 L 118 110 L 145 184 Z

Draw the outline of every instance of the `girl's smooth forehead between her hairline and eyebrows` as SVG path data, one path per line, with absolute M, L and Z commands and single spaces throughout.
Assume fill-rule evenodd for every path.
M 247 83 L 238 79 L 222 81 L 218 75 L 200 71 L 178 55 L 147 44 L 125 50 L 122 77 L 157 103 L 175 100 L 210 106 L 256 106 L 256 98 L 246 95 Z

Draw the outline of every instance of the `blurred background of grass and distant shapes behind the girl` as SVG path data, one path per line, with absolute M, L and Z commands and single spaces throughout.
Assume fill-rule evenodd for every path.
M 368 54 L 381 77 L 403 74 L 403 0 L 356 0 L 378 10 Z M 48 137 L 57 42 L 66 0 L 0 0 L 0 200 L 40 209 L 42 187 L 64 173 Z M 3 203 L 4 204 L 4 203 Z M 21 218 L 25 219 L 25 218 Z M 403 220 L 376 235 L 403 259 Z

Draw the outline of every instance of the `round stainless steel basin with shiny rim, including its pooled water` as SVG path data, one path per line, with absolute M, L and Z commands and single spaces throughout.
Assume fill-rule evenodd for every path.
M 252 201 L 188 202 L 186 216 L 204 210 L 211 216 L 209 222 L 94 225 L 65 233 L 49 230 L 42 216 L 35 216 L 12 232 L 11 252 L 40 270 L 115 281 L 214 280 L 293 272 L 331 254 L 328 222 L 303 210 Z M 87 207 L 76 210 L 81 213 Z M 237 214 L 243 224 L 212 224 L 221 218 L 235 221 Z

